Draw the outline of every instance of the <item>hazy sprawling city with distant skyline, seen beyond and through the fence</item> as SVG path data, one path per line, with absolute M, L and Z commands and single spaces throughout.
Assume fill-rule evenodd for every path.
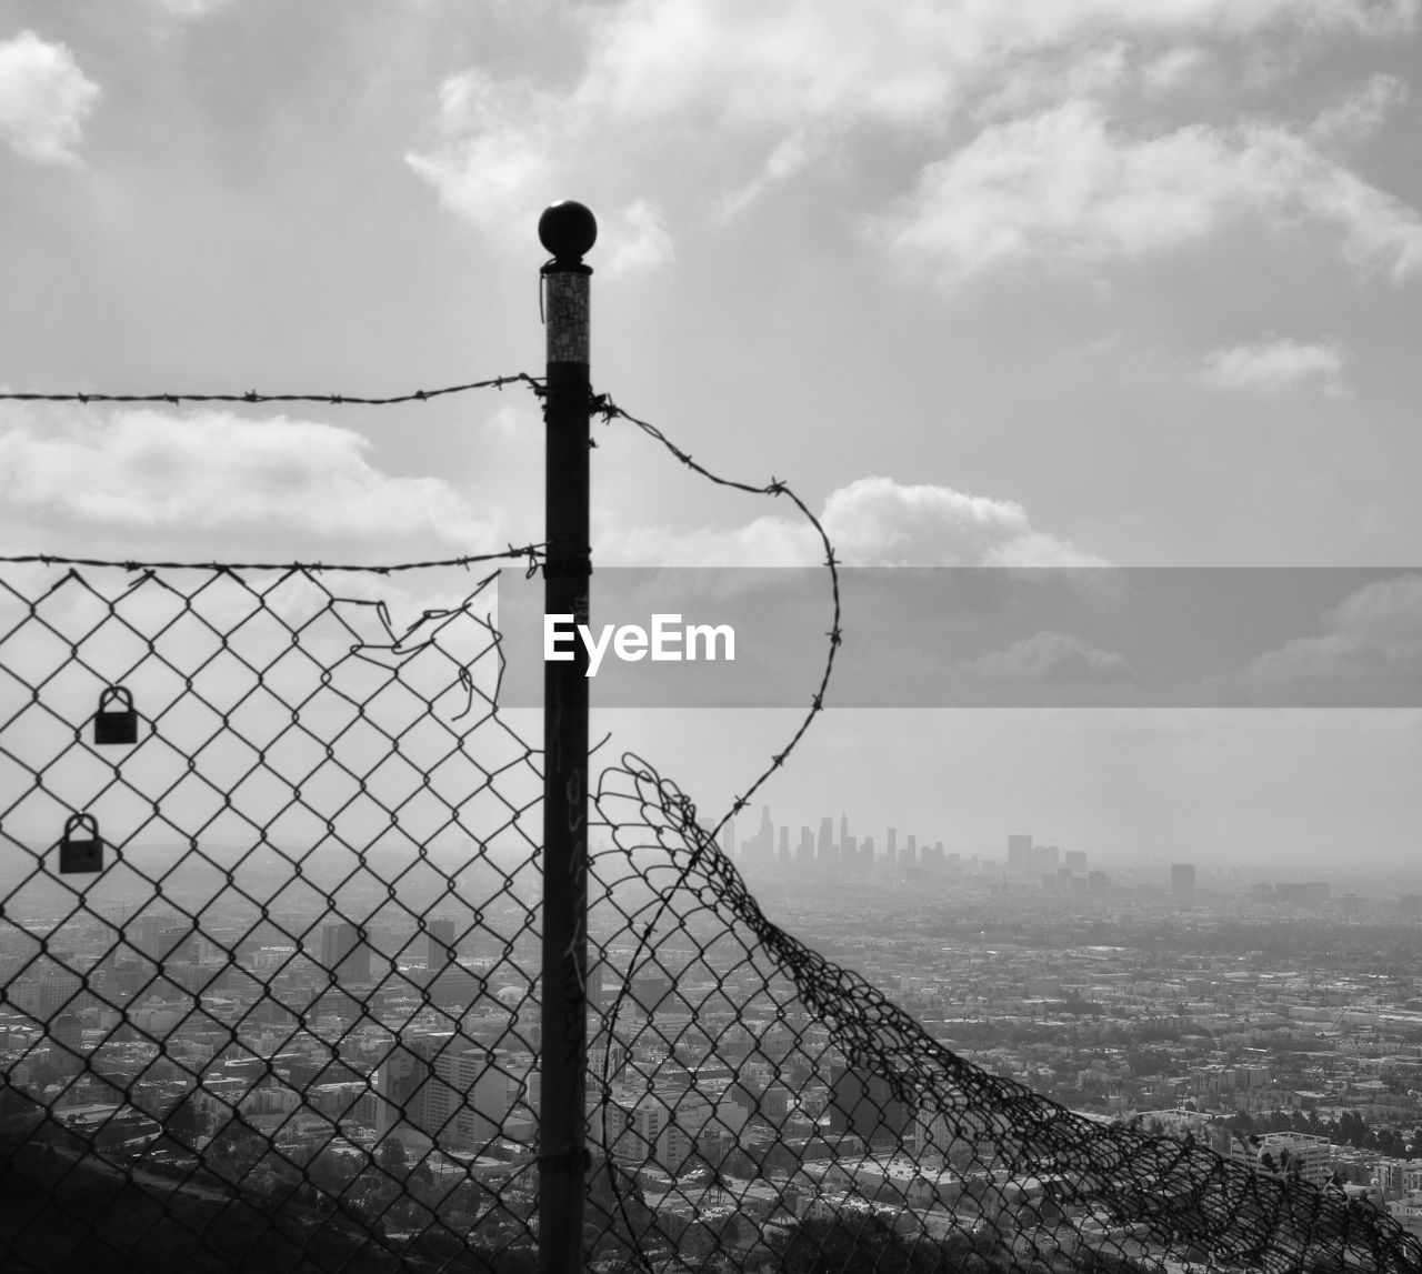
M 843 815 L 791 830 L 762 809 L 722 847 L 778 921 L 966 1059 L 1422 1234 L 1422 894 L 1243 866 L 1111 876 L 1025 832 L 968 856 L 896 828 L 880 850 Z M 313 1180 L 357 1179 L 398 1142 L 401 1162 L 489 1192 L 451 1194 L 461 1223 L 528 1220 L 526 903 L 508 890 L 479 916 L 441 903 L 356 924 L 270 896 L 255 921 L 149 907 L 0 931 L 6 1099 L 102 1128 L 115 1156 L 165 1140 L 218 1172 L 240 1155 L 235 1115 Z M 739 1220 L 752 1243 L 866 1192 L 926 1233 L 987 1213 L 985 1130 L 896 1099 L 772 965 L 685 934 L 638 947 L 594 904 L 587 997 L 593 1136 L 658 1220 L 731 1236 Z

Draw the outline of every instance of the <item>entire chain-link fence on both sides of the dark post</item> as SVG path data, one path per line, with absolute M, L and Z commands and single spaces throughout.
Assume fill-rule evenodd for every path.
M 0 564 L 6 1268 L 538 1267 L 543 779 L 471 564 Z M 641 759 L 593 815 L 587 1268 L 1422 1268 L 956 1056 Z

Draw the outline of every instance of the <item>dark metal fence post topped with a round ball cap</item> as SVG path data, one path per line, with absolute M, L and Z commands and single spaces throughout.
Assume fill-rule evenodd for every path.
M 589 293 L 583 253 L 597 222 L 582 203 L 545 209 L 547 385 L 545 614 L 586 624 L 589 545 Z M 587 1180 L 587 650 L 543 664 L 543 992 L 539 1098 L 539 1268 L 583 1267 Z

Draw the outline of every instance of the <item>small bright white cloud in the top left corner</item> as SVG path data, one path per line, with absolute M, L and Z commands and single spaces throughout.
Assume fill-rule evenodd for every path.
M 36 164 L 78 164 L 82 125 L 100 87 L 67 44 L 34 31 L 0 41 L 0 138 Z

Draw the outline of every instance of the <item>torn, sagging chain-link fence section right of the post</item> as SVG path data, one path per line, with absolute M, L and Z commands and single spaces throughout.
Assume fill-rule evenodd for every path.
M 1260 1170 L 1227 1135 L 1148 1136 L 958 1058 L 771 923 L 646 761 L 594 805 L 603 1268 L 1422 1268 L 1315 1165 Z

